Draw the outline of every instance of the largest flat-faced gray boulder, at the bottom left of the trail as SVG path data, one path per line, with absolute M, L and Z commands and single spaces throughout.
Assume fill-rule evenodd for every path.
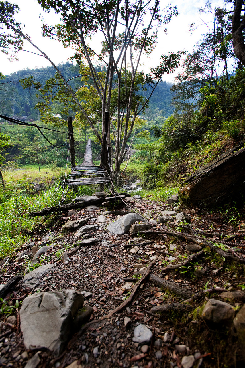
M 19 316 L 26 349 L 47 348 L 60 355 L 83 301 L 80 291 L 75 290 L 36 293 L 25 298 Z

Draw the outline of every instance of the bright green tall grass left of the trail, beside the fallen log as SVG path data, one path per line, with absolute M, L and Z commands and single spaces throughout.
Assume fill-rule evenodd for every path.
M 40 194 L 32 194 L 29 184 L 12 185 L 12 190 L 0 192 L 0 258 L 11 256 L 15 250 L 30 239 L 25 230 L 32 230 L 44 217 L 31 217 L 29 212 L 37 212 L 44 207 L 58 205 L 61 200 L 62 187 L 51 186 Z M 66 203 L 77 195 L 93 193 L 93 188 L 87 185 L 79 187 L 78 194 L 69 190 Z

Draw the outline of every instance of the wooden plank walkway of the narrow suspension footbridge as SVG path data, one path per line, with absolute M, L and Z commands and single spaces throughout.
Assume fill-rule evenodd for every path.
M 72 167 L 70 179 L 65 180 L 67 185 L 93 185 L 111 183 L 107 171 L 101 166 L 93 163 L 91 138 L 88 139 L 83 163 L 80 166 Z

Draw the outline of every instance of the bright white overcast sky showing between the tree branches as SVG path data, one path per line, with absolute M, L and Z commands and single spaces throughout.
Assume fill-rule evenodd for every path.
M 72 50 L 65 49 L 60 43 L 48 38 L 43 38 L 41 36 L 41 26 L 42 22 L 39 19 L 39 15 L 42 14 L 46 23 L 51 25 L 59 22 L 59 16 L 53 11 L 50 14 L 44 13 L 41 6 L 36 0 L 15 0 L 11 1 L 18 4 L 20 11 L 17 15 L 18 21 L 25 24 L 25 33 L 28 33 L 33 41 L 40 49 L 42 49 L 48 57 L 55 64 L 65 63 L 69 56 L 72 54 Z M 205 6 L 204 0 L 173 0 L 172 4 L 175 4 L 179 10 L 180 15 L 173 20 L 168 25 L 167 34 L 162 31 L 158 35 L 158 45 L 151 55 L 151 59 L 142 58 L 141 64 L 144 64 L 143 68 L 146 71 L 149 67 L 156 66 L 159 61 L 161 54 L 172 52 L 177 52 L 179 50 L 186 50 L 191 52 L 195 43 L 201 38 L 202 33 L 205 33 L 207 28 L 203 25 L 203 22 L 208 22 L 210 20 L 210 15 L 198 13 L 200 7 Z M 169 1 L 160 0 L 162 7 L 168 4 Z M 213 0 L 212 8 L 224 7 L 224 1 Z M 189 24 L 195 22 L 198 25 L 196 31 L 191 35 L 189 30 Z M 36 52 L 36 49 L 31 48 L 29 45 L 24 46 L 25 50 Z M 18 55 L 18 61 L 10 62 L 8 57 L 0 53 L 0 71 L 4 74 L 10 74 L 12 72 L 21 69 L 34 69 L 36 67 L 46 67 L 50 64 L 44 57 L 36 56 L 29 52 L 21 51 Z M 163 80 L 173 81 L 173 75 L 164 75 Z

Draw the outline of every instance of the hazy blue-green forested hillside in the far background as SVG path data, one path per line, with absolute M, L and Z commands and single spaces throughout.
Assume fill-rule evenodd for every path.
M 80 68 L 78 64 L 74 66 L 66 62 L 58 65 L 58 68 L 67 80 L 79 75 Z M 101 70 L 101 67 L 98 66 L 96 69 Z M 40 120 L 39 110 L 35 109 L 37 103 L 40 102 L 40 99 L 36 97 L 36 89 L 24 89 L 19 82 L 19 79 L 28 78 L 30 75 L 35 81 L 45 85 L 48 79 L 54 78 L 55 70 L 52 66 L 32 70 L 27 68 L 26 70 L 19 70 L 6 75 L 4 80 L 0 81 L 0 114 L 5 116 L 15 115 L 17 118 L 18 116 L 25 116 L 26 120 Z M 81 81 L 81 77 L 78 77 L 70 80 L 69 85 L 75 89 L 84 85 L 84 82 Z M 167 117 L 173 113 L 172 93 L 170 91 L 172 85 L 172 83 L 167 83 L 166 81 L 161 81 L 158 84 L 146 110 L 146 117 Z M 147 88 L 147 86 L 145 87 Z M 142 88 L 140 88 L 139 93 L 145 98 L 149 94 L 149 92 L 143 91 Z M 61 110 L 62 106 L 60 104 L 56 103 L 55 107 L 53 105 L 53 113 L 60 114 Z

